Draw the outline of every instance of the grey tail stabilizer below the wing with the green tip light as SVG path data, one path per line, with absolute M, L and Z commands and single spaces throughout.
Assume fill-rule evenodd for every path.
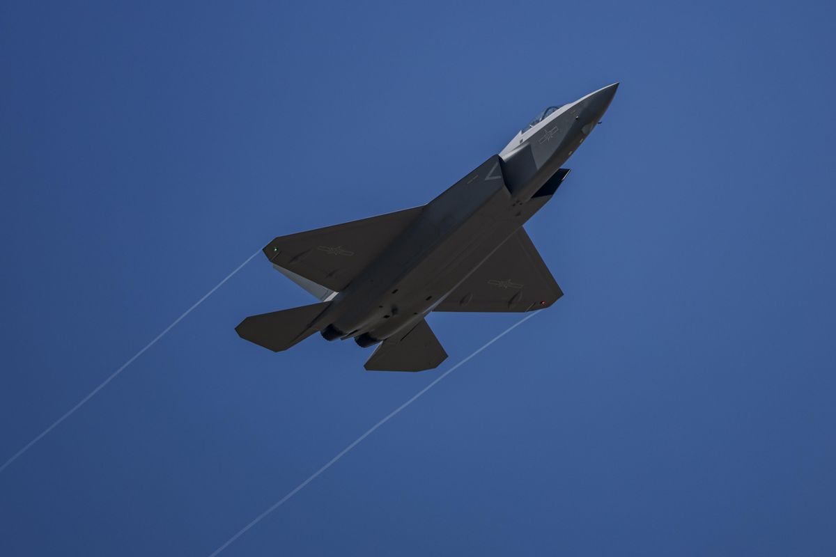
M 249 316 L 235 327 L 235 331 L 244 340 L 255 342 L 273 352 L 287 350 L 316 332 L 316 329 L 310 326 L 330 303 L 324 301 L 310 306 Z

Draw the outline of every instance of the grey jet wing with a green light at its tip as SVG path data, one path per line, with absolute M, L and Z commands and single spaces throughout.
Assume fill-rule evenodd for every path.
M 263 251 L 280 271 L 290 271 L 329 291 L 341 291 L 380 256 L 386 246 L 421 214 L 421 210 L 423 207 L 413 207 L 342 225 L 278 236 Z M 308 287 L 305 289 L 312 291 Z M 322 299 L 318 293 L 312 293 Z

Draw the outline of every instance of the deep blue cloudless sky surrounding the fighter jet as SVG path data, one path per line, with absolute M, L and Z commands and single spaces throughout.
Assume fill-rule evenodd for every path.
M 0 462 L 276 235 L 426 203 L 614 81 L 527 225 L 566 295 L 225 555 L 832 555 L 832 3 L 0 8 Z M 518 319 L 364 372 L 260 257 L 0 473 L 0 554 L 212 552 Z

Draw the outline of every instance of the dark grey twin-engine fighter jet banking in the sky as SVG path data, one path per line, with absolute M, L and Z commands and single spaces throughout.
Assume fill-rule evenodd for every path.
M 367 370 L 418 372 L 447 357 L 431 311 L 536 311 L 563 291 L 523 224 L 568 175 L 619 84 L 543 110 L 499 154 L 430 203 L 275 238 L 264 255 L 319 298 L 249 316 L 238 335 L 274 352 L 319 332 L 375 348 Z

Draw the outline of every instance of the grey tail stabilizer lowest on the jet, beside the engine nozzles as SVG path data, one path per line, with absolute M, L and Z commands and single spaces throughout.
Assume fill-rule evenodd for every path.
M 365 368 L 379 372 L 422 372 L 438 367 L 447 352 L 426 321 L 421 319 L 410 332 L 387 338 L 375 349 Z

